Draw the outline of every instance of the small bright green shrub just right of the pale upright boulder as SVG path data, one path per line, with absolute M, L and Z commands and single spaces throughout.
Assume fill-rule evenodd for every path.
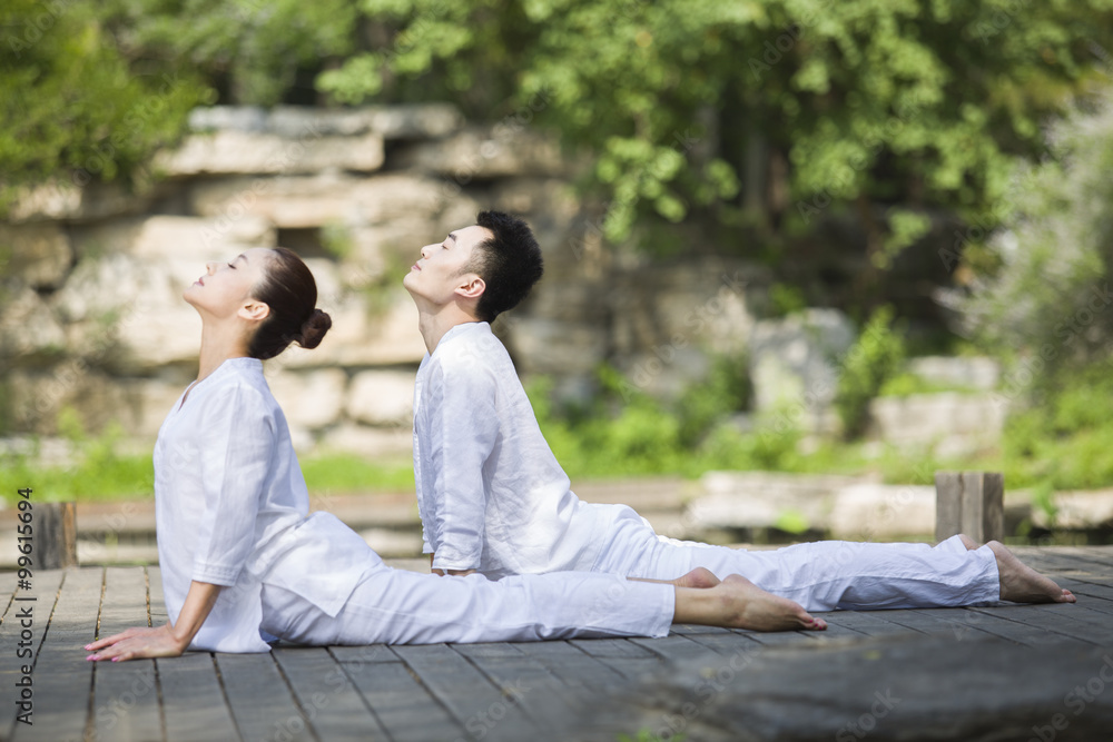
M 841 359 L 835 408 L 847 437 L 863 433 L 869 402 L 904 362 L 904 342 L 893 329 L 893 308 L 877 309 L 854 346 Z

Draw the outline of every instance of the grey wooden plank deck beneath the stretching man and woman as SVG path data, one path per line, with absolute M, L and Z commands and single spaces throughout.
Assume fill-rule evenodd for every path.
M 0 739 L 913 739 L 896 734 L 898 716 L 905 724 L 947 720 L 955 732 L 954 712 L 962 721 L 971 704 L 998 719 L 987 735 L 938 739 L 1038 739 L 1028 722 L 1046 724 L 1057 740 L 1090 739 L 1076 736 L 1090 729 L 1084 721 L 1113 718 L 1113 547 L 1017 551 L 1075 591 L 1078 603 L 836 612 L 824 614 L 824 634 L 677 626 L 661 640 L 290 646 L 121 664 L 88 663 L 81 647 L 166 621 L 157 567 L 39 573 L 30 591 L 7 573 Z M 21 649 L 35 655 L 31 725 L 16 720 L 18 683 L 27 682 Z M 1046 657 L 1054 672 L 1041 669 Z M 823 680 L 814 684 L 823 690 L 794 680 L 792 667 Z M 978 673 L 973 691 L 948 695 Z M 919 691 L 899 684 L 913 677 Z M 1083 689 L 1089 681 L 1090 695 L 1080 698 L 1090 700 L 1076 699 L 1077 713 L 1072 677 Z M 1012 711 L 989 700 L 995 684 Z M 1055 725 L 1056 710 L 1068 726 Z M 1002 733 L 1009 713 L 1020 713 L 1015 738 Z

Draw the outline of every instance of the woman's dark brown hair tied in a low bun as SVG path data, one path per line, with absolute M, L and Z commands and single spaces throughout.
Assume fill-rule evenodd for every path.
M 270 307 L 247 347 L 253 358 L 274 358 L 290 343 L 315 348 L 333 326 L 332 317 L 315 308 L 317 283 L 308 266 L 285 247 L 272 250 L 252 295 Z

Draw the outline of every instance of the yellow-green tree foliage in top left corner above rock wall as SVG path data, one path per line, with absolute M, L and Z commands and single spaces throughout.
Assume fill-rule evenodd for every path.
M 188 66 L 130 56 L 108 14 L 91 0 L 0 6 L 0 216 L 51 178 L 141 186 L 141 166 L 209 100 Z

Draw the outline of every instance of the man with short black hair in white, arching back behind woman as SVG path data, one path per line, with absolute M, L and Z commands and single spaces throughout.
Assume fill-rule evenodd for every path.
M 659 537 L 626 505 L 581 502 L 490 323 L 541 278 L 530 227 L 499 211 L 426 245 L 403 279 L 429 354 L 414 390 L 414 476 L 433 572 L 594 571 L 710 586 L 740 574 L 806 611 L 1074 602 L 996 542 L 819 542 L 747 552 Z

